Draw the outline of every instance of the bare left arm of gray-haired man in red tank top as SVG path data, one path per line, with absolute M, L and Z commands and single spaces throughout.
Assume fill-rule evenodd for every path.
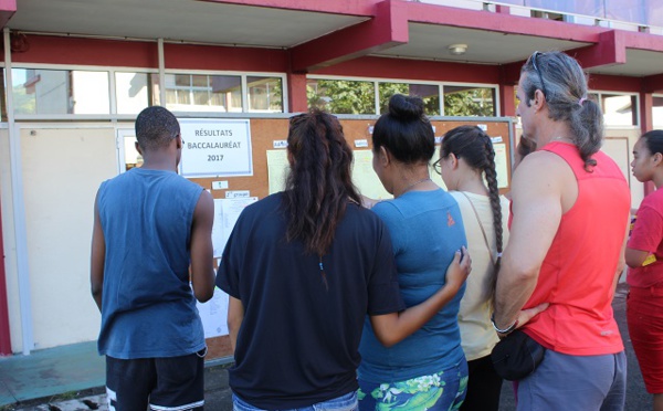
M 522 312 L 557 234 L 562 215 L 561 187 L 569 182 L 566 181 L 569 176 L 572 178 L 568 165 L 546 151 L 524 158 L 514 173 L 514 219 L 495 295 L 495 325 L 501 329 L 508 328 L 516 319 L 522 326 L 545 308 Z

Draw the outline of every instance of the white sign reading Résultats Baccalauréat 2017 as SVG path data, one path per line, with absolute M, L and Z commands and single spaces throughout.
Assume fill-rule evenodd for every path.
M 181 118 L 183 177 L 253 176 L 248 119 Z

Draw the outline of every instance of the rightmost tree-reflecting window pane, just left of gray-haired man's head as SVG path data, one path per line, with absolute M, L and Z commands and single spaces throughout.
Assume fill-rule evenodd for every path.
M 445 116 L 492 117 L 495 112 L 495 88 L 473 86 L 444 86 Z

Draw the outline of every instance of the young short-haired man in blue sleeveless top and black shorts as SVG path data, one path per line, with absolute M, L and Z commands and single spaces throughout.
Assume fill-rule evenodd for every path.
M 214 203 L 177 175 L 182 139 L 169 110 L 144 109 L 136 137 L 144 165 L 104 181 L 94 207 L 91 285 L 108 405 L 202 410 L 207 348 L 196 299 L 214 291 Z

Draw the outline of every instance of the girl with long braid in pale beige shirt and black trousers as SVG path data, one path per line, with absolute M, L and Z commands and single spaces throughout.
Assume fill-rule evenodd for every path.
M 491 313 L 496 273 L 508 235 L 508 200 L 499 196 L 497 188 L 493 143 L 478 127 L 456 127 L 444 136 L 440 159 L 433 167 L 459 202 L 473 260 L 459 312 L 470 370 L 461 410 L 497 410 L 502 379 L 491 361 L 491 350 L 498 341 Z

